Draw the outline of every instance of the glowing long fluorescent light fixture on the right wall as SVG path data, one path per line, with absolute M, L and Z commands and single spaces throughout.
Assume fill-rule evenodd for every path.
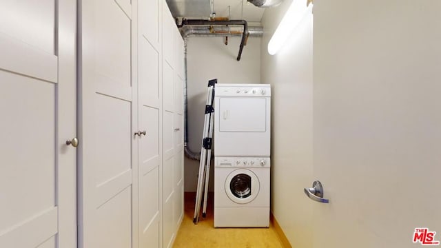
M 269 40 L 268 53 L 274 55 L 287 41 L 288 37 L 297 29 L 300 21 L 302 21 L 307 14 L 311 13 L 312 3 L 305 4 L 305 0 L 293 0 L 289 6 L 282 21 L 278 24 L 276 32 Z

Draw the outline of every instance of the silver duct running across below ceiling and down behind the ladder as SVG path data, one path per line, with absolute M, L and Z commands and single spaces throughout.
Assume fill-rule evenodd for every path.
M 210 28 L 206 25 L 183 25 L 179 30 L 184 38 L 184 153 L 189 159 L 200 160 L 201 152 L 193 152 L 188 147 L 187 39 L 188 37 L 238 37 L 243 34 L 243 27 L 215 25 Z M 263 28 L 248 27 L 248 34 L 250 37 L 262 37 Z

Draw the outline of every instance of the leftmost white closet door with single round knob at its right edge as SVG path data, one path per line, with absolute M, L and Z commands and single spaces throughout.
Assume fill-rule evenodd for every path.
M 76 246 L 75 6 L 1 3 L 0 247 Z

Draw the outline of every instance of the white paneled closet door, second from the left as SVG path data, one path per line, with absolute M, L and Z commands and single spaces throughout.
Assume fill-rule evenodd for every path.
M 137 64 L 132 56 L 137 39 L 133 4 L 136 1 L 80 4 L 79 247 L 137 247 L 138 166 L 132 161 L 137 161 L 134 147 L 140 137 L 135 134 L 139 129 L 138 88 L 132 74 Z M 149 123 L 141 123 L 145 138 Z

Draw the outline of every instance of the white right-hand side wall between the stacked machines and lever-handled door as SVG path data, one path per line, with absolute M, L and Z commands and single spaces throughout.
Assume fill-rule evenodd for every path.
M 306 2 L 306 1 L 305 1 Z M 271 211 L 293 247 L 312 246 L 312 17 L 271 56 L 267 43 L 291 4 L 265 10 L 262 81 L 272 85 Z

